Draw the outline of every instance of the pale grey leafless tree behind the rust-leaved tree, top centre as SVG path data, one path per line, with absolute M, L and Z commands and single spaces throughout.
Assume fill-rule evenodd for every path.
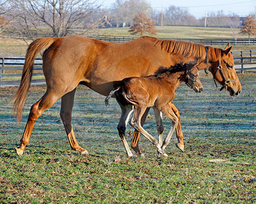
M 139 14 L 144 12 L 150 15 L 152 8 L 145 0 L 117 0 L 113 3 L 111 11 L 112 18 L 115 24 L 125 27 L 133 25 L 133 19 Z

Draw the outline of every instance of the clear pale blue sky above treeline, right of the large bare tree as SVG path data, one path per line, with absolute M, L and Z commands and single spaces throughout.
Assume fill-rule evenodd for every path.
M 214 0 L 214 1 L 203 1 L 203 0 L 146 0 L 151 3 L 151 7 L 161 11 L 168 8 L 170 5 L 187 7 L 190 14 L 195 16 L 197 19 L 205 16 L 205 11 L 216 12 L 223 10 L 224 14 L 238 14 L 241 17 L 249 14 L 254 14 L 256 0 Z M 102 3 L 103 7 L 111 7 L 115 0 L 98 0 Z

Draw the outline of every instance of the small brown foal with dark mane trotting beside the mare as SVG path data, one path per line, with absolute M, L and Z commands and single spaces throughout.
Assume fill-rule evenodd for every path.
M 167 156 L 164 149 L 169 144 L 174 129 L 177 127 L 179 119 L 174 111 L 172 111 L 172 100 L 175 97 L 175 89 L 181 82 L 186 82 L 189 87 L 195 91 L 201 92 L 203 86 L 200 82 L 196 63 L 185 63 L 185 65 L 177 64 L 170 67 L 167 71 L 158 75 L 148 77 L 130 77 L 125 78 L 117 88 L 114 88 L 108 97 L 105 104 L 108 105 L 110 97 L 115 94 L 122 115 L 117 126 L 119 136 L 125 146 L 128 157 L 135 158 L 136 155 L 131 153 L 131 150 L 125 139 L 125 130 L 133 112 L 130 125 L 139 133 L 142 133 L 153 145 L 157 148 L 159 154 Z M 141 126 L 141 118 L 147 107 L 153 107 L 156 117 L 156 126 L 158 127 L 159 142 L 152 137 Z M 172 128 L 166 139 L 162 143 L 163 122 L 159 120 L 160 112 L 164 113 L 172 121 Z

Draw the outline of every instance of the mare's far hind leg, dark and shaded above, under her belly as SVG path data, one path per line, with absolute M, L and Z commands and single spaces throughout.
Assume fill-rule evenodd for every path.
M 71 120 L 72 120 L 72 108 L 74 104 L 74 97 L 75 97 L 76 88 L 65 94 L 61 97 L 61 109 L 60 109 L 60 117 L 63 122 L 65 131 L 68 136 L 69 144 L 72 148 L 72 150 L 76 150 L 80 152 L 80 154 L 88 154 L 88 151 L 86 151 L 84 148 L 80 147 L 79 144 L 76 141 L 76 137 L 73 131 L 73 128 L 71 126 Z

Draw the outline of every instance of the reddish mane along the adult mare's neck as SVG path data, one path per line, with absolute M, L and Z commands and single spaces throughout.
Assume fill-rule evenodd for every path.
M 205 46 L 194 42 L 177 40 L 159 40 L 156 37 L 143 36 L 143 39 L 152 41 L 155 46 L 160 46 L 167 53 L 181 55 L 183 57 L 206 58 Z M 220 58 L 222 49 L 207 46 L 209 60 L 216 62 Z

